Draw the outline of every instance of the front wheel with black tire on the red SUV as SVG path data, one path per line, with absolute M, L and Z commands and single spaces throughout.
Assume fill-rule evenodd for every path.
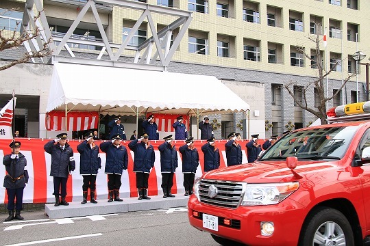
M 301 246 L 333 245 L 354 246 L 354 233 L 348 219 L 334 208 L 323 207 L 309 215 L 299 238 Z M 328 227 L 332 228 L 328 232 Z M 343 241 L 343 238 L 345 241 Z

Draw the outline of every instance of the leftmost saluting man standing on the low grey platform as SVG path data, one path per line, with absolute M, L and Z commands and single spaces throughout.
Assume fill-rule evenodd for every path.
M 56 197 L 54 206 L 68 206 L 69 203 L 66 202 L 66 183 L 69 175 L 72 175 L 75 170 L 75 159 L 71 146 L 66 142 L 67 134 L 60 133 L 56 137 L 56 139 L 45 144 L 44 150 L 51 154 L 50 176 L 53 177 L 53 195 Z M 61 202 L 59 201 L 60 195 L 62 196 Z

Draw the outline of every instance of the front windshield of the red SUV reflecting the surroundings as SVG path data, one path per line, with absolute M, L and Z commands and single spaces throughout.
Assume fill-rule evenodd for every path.
M 344 156 L 358 126 L 306 128 L 285 135 L 260 157 L 260 161 L 282 160 L 296 156 L 299 160 L 339 160 Z

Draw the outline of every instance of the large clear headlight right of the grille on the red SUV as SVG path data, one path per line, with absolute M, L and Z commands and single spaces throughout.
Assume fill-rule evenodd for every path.
M 241 206 L 271 205 L 282 202 L 299 188 L 299 182 L 247 184 Z

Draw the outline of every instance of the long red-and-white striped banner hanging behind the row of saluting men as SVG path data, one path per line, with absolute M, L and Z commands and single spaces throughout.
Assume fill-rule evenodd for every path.
M 21 141 L 21 152 L 25 155 L 27 159 L 27 170 L 29 173 L 29 182 L 25 187 L 23 202 L 25 203 L 47 203 L 53 202 L 53 177 L 50 174 L 50 163 L 51 156 L 47 154 L 44 150 L 44 145 L 50 139 L 26 139 L 18 138 Z M 67 183 L 67 197 L 68 202 L 78 202 L 82 200 L 82 176 L 79 175 L 79 153 L 77 152 L 77 145 L 80 140 L 69 140 L 71 148 L 74 150 L 74 156 L 76 161 L 76 170 L 72 176 L 69 177 Z M 96 141 L 99 145 L 102 141 Z M 123 146 L 125 146 L 129 153 L 129 164 L 127 170 L 123 171 L 121 178 L 121 197 L 137 197 L 136 191 L 136 176 L 133 172 L 133 159 L 134 153 L 128 148 L 128 143 L 130 141 L 122 141 Z M 176 142 L 176 141 L 175 141 Z M 11 149 L 9 148 L 10 140 L 0 139 L 0 159 L 3 159 L 4 154 L 10 154 Z M 163 141 L 151 141 L 153 148 L 156 153 L 156 162 L 151 170 L 149 176 L 149 195 L 162 195 L 162 188 L 160 184 L 162 182 L 162 175 L 160 173 L 160 152 L 158 146 L 163 143 Z M 204 145 L 206 141 L 195 141 L 195 148 L 199 152 L 200 165 L 197 168 L 196 177 L 200 177 L 204 170 L 204 154 L 201 152 L 201 146 Z M 219 148 L 221 156 L 220 167 L 225 167 L 226 154 L 225 154 L 225 143 L 226 140 L 220 140 L 216 142 L 217 148 Z M 247 155 L 245 144 L 247 141 L 240 142 L 243 152 L 243 163 L 247 163 Z M 260 140 L 263 143 L 263 140 Z M 184 141 L 178 141 L 176 143 L 177 150 L 184 144 Z M 100 200 L 107 199 L 108 197 L 108 187 L 107 187 L 107 176 L 104 174 L 104 167 L 106 164 L 106 154 L 101 152 L 101 169 L 99 169 L 99 174 L 97 175 L 97 197 Z M 180 152 L 177 152 L 179 159 L 179 167 L 176 169 L 174 184 L 172 188 L 172 193 L 184 193 L 184 177 L 182 174 L 182 158 Z M 5 176 L 5 167 L 0 167 L 0 177 Z M 0 204 L 7 203 L 8 197 L 5 194 L 5 188 L 0 188 Z

